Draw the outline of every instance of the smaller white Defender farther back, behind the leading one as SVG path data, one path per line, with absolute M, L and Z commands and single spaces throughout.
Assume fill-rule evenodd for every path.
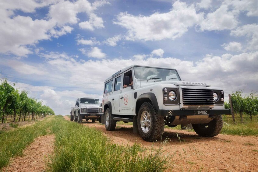
M 78 98 L 75 107 L 71 108 L 70 121 L 82 123 L 83 119 L 88 121 L 91 119 L 95 122 L 96 119 L 101 123 L 102 109 L 99 106 L 99 99 L 94 98 Z

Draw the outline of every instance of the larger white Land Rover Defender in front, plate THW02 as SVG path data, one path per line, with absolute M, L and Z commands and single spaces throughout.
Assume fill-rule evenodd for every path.
M 181 81 L 175 69 L 137 65 L 105 80 L 102 110 L 108 131 L 117 121 L 133 122 L 133 132 L 146 141 L 161 139 L 164 125 L 192 124 L 198 135 L 213 137 L 221 131 L 221 114 L 231 114 L 221 88 Z

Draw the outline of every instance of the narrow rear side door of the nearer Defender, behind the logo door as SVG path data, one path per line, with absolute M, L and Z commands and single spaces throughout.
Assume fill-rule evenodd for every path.
M 111 98 L 113 112 L 119 112 L 120 94 L 122 88 L 122 75 L 115 78 L 114 92 Z

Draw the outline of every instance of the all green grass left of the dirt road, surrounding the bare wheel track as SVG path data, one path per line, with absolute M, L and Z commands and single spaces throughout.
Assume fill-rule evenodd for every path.
M 0 134 L 0 171 L 11 157 L 22 156 L 35 138 L 47 134 L 55 134 L 55 149 L 46 160 L 46 171 L 163 171 L 171 163 L 162 147 L 146 150 L 138 144 L 113 144 L 97 129 L 58 115 Z

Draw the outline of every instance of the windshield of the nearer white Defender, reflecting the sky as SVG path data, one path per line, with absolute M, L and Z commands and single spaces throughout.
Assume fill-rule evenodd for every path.
M 147 81 L 180 81 L 177 71 L 173 69 L 135 66 L 134 76 Z

